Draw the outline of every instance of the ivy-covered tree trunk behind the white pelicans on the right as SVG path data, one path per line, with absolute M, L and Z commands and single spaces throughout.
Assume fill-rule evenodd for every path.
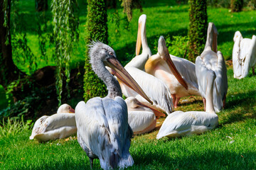
M 206 0 L 189 0 L 189 28 L 188 28 L 188 60 L 195 62 L 201 55 L 207 37 L 207 3 Z

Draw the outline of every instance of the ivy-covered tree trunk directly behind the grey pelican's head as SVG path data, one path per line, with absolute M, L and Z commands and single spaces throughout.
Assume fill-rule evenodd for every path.
M 99 40 L 107 44 L 107 1 L 87 0 L 87 3 L 86 43 Z M 84 98 L 87 101 L 95 96 L 106 96 L 107 89 L 103 81 L 92 71 L 88 48 L 85 54 Z

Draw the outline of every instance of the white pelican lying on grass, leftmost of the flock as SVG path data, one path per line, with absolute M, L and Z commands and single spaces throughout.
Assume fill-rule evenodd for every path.
M 72 114 L 70 114 L 72 113 Z M 30 140 L 36 139 L 38 142 L 48 140 L 63 139 L 77 132 L 75 125 L 74 109 L 68 104 L 63 104 L 54 115 L 43 115 L 36 120 L 33 126 Z

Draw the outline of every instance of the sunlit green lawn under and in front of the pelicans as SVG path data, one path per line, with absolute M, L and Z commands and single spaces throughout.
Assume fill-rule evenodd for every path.
M 156 130 L 132 139 L 134 166 L 129 169 L 255 169 L 256 77 L 233 79 L 228 69 L 225 110 L 219 126 L 203 135 L 156 140 Z M 178 110 L 203 111 L 199 98 L 181 100 Z M 0 138 L 0 169 L 90 169 L 89 159 L 76 137 L 38 143 L 28 140 L 31 130 Z M 94 169 L 100 169 L 95 160 Z

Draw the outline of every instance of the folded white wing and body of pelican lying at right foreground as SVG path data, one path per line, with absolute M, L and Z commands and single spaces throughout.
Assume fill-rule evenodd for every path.
M 156 136 L 179 137 L 183 135 L 201 134 L 218 125 L 218 115 L 206 112 L 176 111 L 167 116 Z

